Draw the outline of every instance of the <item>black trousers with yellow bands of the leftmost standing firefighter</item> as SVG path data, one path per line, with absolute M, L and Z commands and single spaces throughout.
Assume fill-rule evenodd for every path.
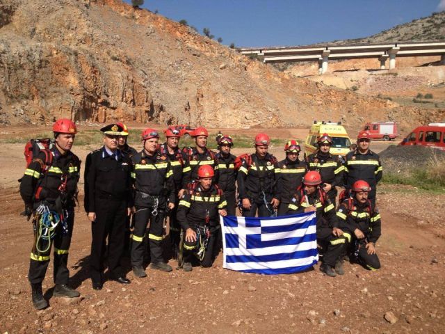
M 70 249 L 72 229 L 74 228 L 74 210 L 68 211 L 66 217 L 68 232 L 63 234 L 62 225 L 59 223 L 56 228 L 56 235 L 53 240 L 39 242 L 39 248 L 48 248 L 46 252 L 37 250 L 36 242 L 38 234 L 34 232 L 34 244 L 31 250 L 31 261 L 29 263 L 28 279 L 31 284 L 42 283 L 47 273 L 51 246 L 54 246 L 54 283 L 68 284 L 70 271 L 68 270 L 68 250 Z M 49 242 L 49 245 L 48 245 Z

